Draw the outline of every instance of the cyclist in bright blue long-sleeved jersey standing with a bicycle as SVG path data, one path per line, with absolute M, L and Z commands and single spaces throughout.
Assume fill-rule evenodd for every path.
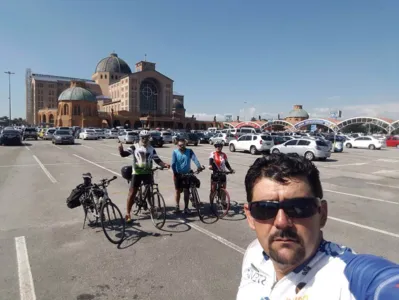
M 177 149 L 172 153 L 172 170 L 173 180 L 175 183 L 175 200 L 176 209 L 175 213 L 180 212 L 180 194 L 184 190 L 184 213 L 189 214 L 188 209 L 189 202 L 189 190 L 187 184 L 184 182 L 181 174 L 187 174 L 191 171 L 191 161 L 195 163 L 198 170 L 202 170 L 201 164 L 198 161 L 194 151 L 186 148 L 186 140 L 179 139 L 177 141 Z

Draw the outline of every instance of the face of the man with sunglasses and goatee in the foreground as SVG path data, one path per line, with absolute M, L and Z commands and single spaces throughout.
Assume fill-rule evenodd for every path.
M 314 197 L 305 178 L 294 178 L 281 184 L 268 178 L 260 179 L 253 188 L 252 202 L 261 200 L 284 201 L 286 199 Z M 245 213 L 251 229 L 263 250 L 276 263 L 293 269 L 310 258 L 319 246 L 320 229 L 327 218 L 327 203 L 321 202 L 320 210 L 309 218 L 290 218 L 280 209 L 276 217 L 256 220 L 245 204 Z

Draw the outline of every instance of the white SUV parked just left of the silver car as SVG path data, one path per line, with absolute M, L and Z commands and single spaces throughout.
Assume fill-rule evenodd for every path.
M 237 140 L 231 140 L 229 149 L 234 151 L 249 151 L 252 155 L 267 152 L 274 146 L 273 138 L 267 134 L 245 134 Z

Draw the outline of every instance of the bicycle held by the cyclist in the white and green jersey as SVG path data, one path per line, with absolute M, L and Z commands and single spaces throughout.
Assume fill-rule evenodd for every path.
M 151 221 L 154 226 L 161 229 L 166 222 L 166 206 L 162 194 L 159 192 L 158 184 L 154 182 L 154 173 L 156 170 L 164 170 L 165 168 L 156 167 L 151 169 L 151 182 L 142 183 L 134 201 L 133 214 L 138 215 L 143 209 L 148 210 L 150 207 Z M 144 188 L 144 191 L 143 191 Z M 159 214 L 158 214 L 159 211 Z

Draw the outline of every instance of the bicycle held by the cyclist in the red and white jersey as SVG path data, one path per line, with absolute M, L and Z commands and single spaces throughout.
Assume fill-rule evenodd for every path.
M 223 175 L 229 174 L 233 174 L 233 172 L 216 171 L 214 173 L 216 176 L 214 176 L 213 181 L 216 186 L 215 191 L 212 193 L 210 204 L 213 214 L 220 219 L 224 218 L 230 210 L 230 195 L 222 185 Z

